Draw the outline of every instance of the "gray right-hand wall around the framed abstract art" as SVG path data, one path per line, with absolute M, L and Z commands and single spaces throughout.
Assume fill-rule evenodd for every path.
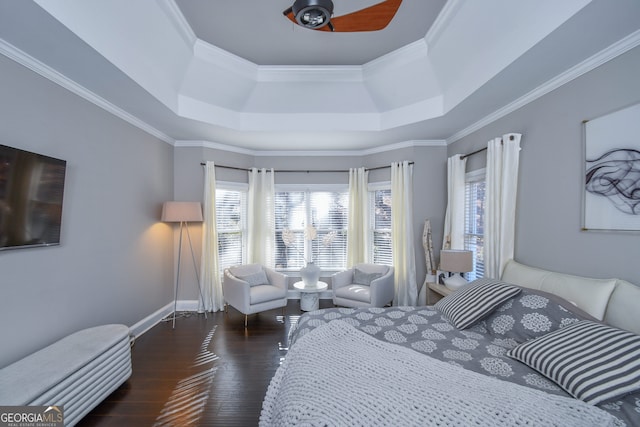
M 640 285 L 640 233 L 581 231 L 582 120 L 640 102 L 638 76 L 640 48 L 635 48 L 449 146 L 449 155 L 468 153 L 504 133 L 523 134 L 515 247 L 519 261 Z M 484 158 L 471 158 L 468 169 L 483 167 Z

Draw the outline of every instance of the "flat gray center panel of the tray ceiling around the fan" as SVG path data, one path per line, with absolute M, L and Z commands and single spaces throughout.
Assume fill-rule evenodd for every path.
M 334 16 L 381 0 L 334 0 Z M 404 0 L 382 31 L 333 34 L 291 23 L 293 0 L 176 0 L 198 38 L 259 65 L 363 65 L 427 34 L 446 0 Z

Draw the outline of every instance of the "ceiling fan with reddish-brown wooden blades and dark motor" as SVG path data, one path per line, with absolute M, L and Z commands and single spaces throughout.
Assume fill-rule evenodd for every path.
M 312 30 L 378 31 L 389 25 L 400 3 L 402 0 L 380 1 L 372 6 L 334 17 L 331 0 L 295 0 L 293 5 L 282 13 L 292 22 Z

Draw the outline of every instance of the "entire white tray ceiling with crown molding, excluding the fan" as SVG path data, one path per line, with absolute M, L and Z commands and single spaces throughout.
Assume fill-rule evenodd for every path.
M 176 145 L 370 152 L 456 140 L 640 44 L 637 0 L 404 0 L 370 33 L 290 4 L 0 0 L 0 53 Z

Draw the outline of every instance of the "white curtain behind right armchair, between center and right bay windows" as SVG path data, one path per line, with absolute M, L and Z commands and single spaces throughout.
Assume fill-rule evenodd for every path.
M 368 259 L 368 178 L 369 172 L 365 168 L 349 169 L 347 268 Z

